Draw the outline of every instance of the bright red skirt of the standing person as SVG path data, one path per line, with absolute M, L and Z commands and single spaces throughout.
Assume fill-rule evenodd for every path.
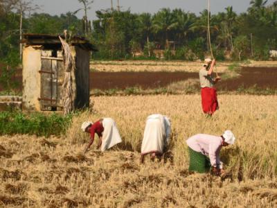
M 205 114 L 212 115 L 219 108 L 216 89 L 204 87 L 201 89 L 202 109 Z

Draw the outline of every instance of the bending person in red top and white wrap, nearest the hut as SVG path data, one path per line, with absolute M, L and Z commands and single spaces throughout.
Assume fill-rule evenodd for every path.
M 111 118 L 100 119 L 95 123 L 85 121 L 82 123 L 81 129 L 91 135 L 91 140 L 84 150 L 84 153 L 87 153 L 87 150 L 89 150 L 91 144 L 93 144 L 95 133 L 99 137 L 97 148 L 101 147 L 102 152 L 122 141 L 116 127 L 116 122 Z

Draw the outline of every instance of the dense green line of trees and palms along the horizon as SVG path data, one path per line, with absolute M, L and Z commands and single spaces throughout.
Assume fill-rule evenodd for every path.
M 209 53 L 207 17 L 210 15 L 211 44 L 217 60 L 268 60 L 277 49 L 277 1 L 251 0 L 247 12 L 232 6 L 211 15 L 196 15 L 181 9 L 163 8 L 154 14 L 130 10 L 98 10 L 88 21 L 93 1 L 78 0 L 82 8 L 62 15 L 41 13 L 32 1 L 0 0 L 0 60 L 18 64 L 21 33 L 61 34 L 64 29 L 86 36 L 98 48 L 93 58 L 157 58 L 163 51 L 168 60 L 203 59 Z M 81 10 L 81 11 L 80 11 Z M 84 12 L 78 19 L 77 12 Z M 30 13 L 30 15 L 29 15 Z

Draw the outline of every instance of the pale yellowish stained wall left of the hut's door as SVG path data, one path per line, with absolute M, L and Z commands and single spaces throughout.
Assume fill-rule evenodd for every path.
M 40 74 L 41 46 L 28 46 L 23 50 L 22 70 L 22 108 L 24 110 L 40 110 Z

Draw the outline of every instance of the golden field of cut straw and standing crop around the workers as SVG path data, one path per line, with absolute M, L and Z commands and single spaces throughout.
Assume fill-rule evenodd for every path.
M 64 138 L 0 137 L 0 207 L 276 207 L 276 96 L 220 96 L 220 111 L 207 119 L 200 97 L 93 98 L 95 112 L 73 119 Z M 145 119 L 172 121 L 170 151 L 139 164 Z M 123 144 L 100 153 L 82 121 L 115 119 Z M 231 129 L 234 146 L 222 149 L 230 177 L 188 175 L 185 139 Z

